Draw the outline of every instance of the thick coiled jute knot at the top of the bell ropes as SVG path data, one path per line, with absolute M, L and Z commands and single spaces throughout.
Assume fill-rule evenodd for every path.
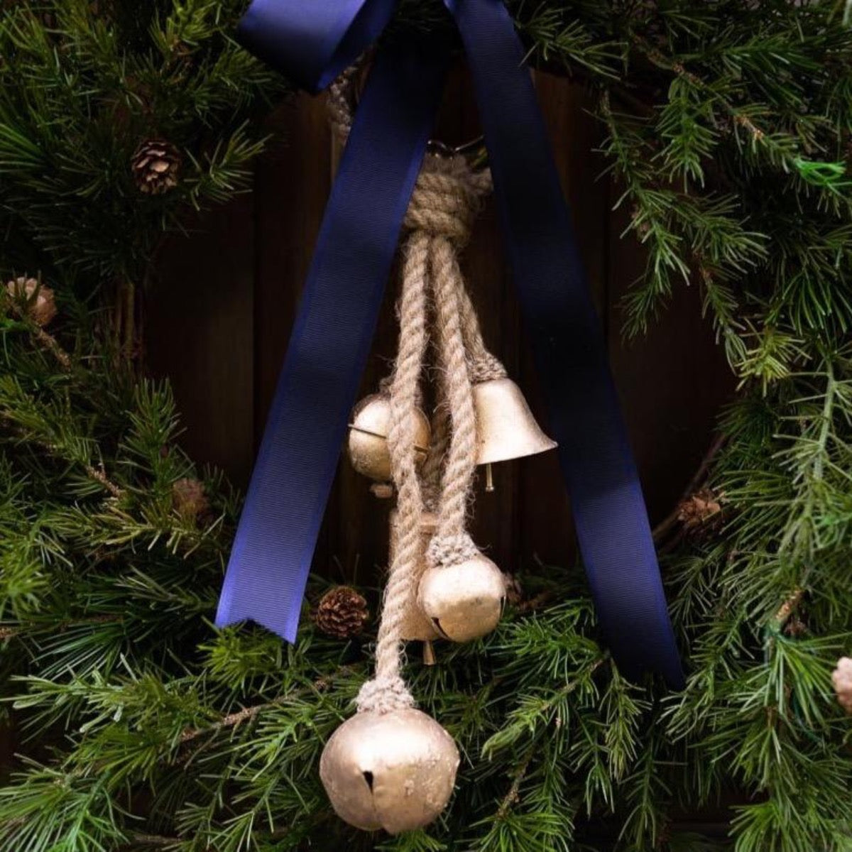
M 428 155 L 417 176 L 405 226 L 462 245 L 490 186 L 490 175 L 472 170 L 465 158 Z

